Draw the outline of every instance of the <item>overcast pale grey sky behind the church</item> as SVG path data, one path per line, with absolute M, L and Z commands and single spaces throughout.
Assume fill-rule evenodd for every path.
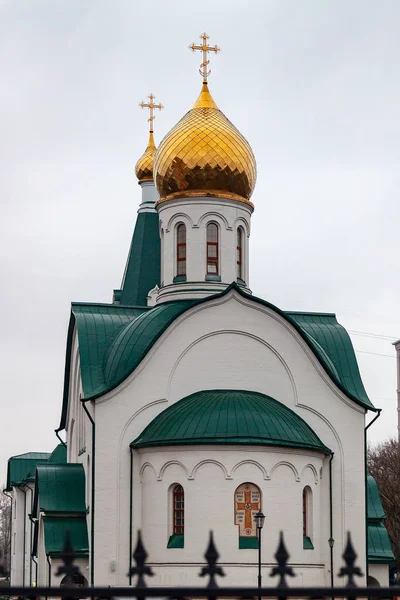
M 258 163 L 253 292 L 334 311 L 396 433 L 399 325 L 398 0 L 0 0 L 1 446 L 50 451 L 71 301 L 119 287 L 147 142 L 138 102 L 195 101 L 203 31 L 210 88 Z M 371 354 L 369 354 L 371 353 Z

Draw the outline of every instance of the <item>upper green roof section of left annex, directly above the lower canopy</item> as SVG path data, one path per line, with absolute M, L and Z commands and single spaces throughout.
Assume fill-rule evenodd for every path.
M 75 463 L 47 463 L 36 470 L 35 496 L 32 514 L 85 513 L 85 471 Z

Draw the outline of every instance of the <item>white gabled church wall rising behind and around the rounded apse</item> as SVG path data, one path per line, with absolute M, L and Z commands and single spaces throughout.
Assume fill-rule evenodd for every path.
M 101 523 L 96 531 L 96 581 L 126 582 L 129 443 L 167 405 L 212 388 L 271 395 L 305 419 L 334 451 L 335 570 L 347 529 L 352 531 L 362 562 L 364 410 L 334 386 L 299 334 L 280 315 L 232 292 L 178 318 L 136 371 L 96 402 L 96 522 Z M 181 454 L 184 457 L 186 449 Z M 329 498 L 327 465 L 325 460 L 324 506 Z M 136 468 L 134 464 L 135 474 Z M 135 503 L 140 505 L 138 494 L 135 487 Z M 140 526 L 135 506 L 134 529 Z M 329 539 L 326 509 L 321 512 L 320 530 L 321 539 Z M 320 547 L 321 559 L 329 566 L 329 548 L 327 544 Z M 108 567 L 114 559 L 117 570 L 110 575 Z

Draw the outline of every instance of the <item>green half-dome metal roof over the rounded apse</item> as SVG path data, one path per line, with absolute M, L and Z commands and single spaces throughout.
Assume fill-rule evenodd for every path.
M 191 394 L 160 413 L 131 446 L 181 444 L 256 444 L 330 453 L 292 410 L 269 396 L 245 390 Z

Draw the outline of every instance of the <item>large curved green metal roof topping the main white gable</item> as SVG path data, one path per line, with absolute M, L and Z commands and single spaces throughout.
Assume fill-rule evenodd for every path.
M 240 286 L 232 283 L 220 294 L 201 300 L 166 302 L 153 308 L 73 304 L 67 342 L 63 408 L 58 430 L 65 427 L 75 324 L 79 337 L 84 399 L 93 400 L 124 381 L 177 317 L 193 306 L 226 295 L 232 289 L 286 319 L 308 344 L 342 392 L 362 407 L 376 410 L 361 381 L 350 337 L 337 322 L 335 315 L 284 312 L 269 302 L 246 294 Z

